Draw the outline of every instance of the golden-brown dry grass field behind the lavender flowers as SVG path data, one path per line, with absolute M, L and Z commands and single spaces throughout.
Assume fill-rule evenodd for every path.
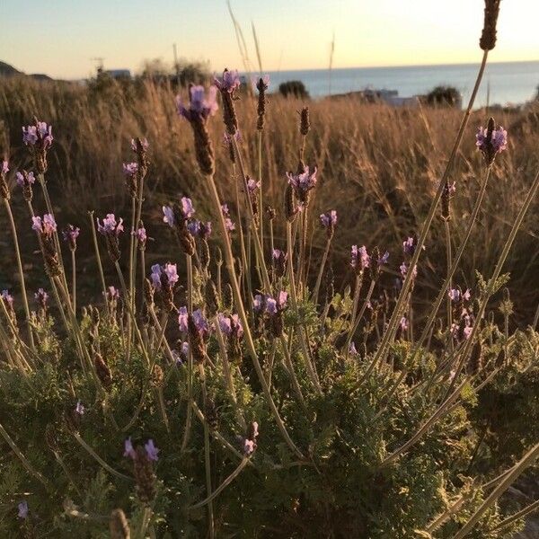
M 98 215 L 110 210 L 121 214 L 126 210 L 128 197 L 121 163 L 132 159 L 129 141 L 134 136 L 147 137 L 151 144 L 146 212 L 152 215 L 146 215 L 146 223 L 160 212 L 163 201 L 181 194 L 189 194 L 196 200 L 201 212 L 208 211 L 206 193 L 192 154 L 189 125 L 177 118 L 173 97 L 170 88 L 151 84 L 128 92 L 112 89 L 100 96 L 70 84 L 4 81 L 0 85 L 0 149 L 10 156 L 12 170 L 31 166 L 22 147 L 21 126 L 31 123 L 33 115 L 53 125 L 56 139 L 49 154 L 48 178 L 62 224 L 69 221 L 84 225 L 85 213 L 91 208 Z M 296 110 L 303 104 L 278 96 L 270 98 L 262 178 L 264 196 L 278 210 L 286 183 L 285 172 L 296 168 L 299 140 Z M 365 105 L 353 99 L 308 105 L 314 128 L 305 161 L 318 167 L 320 178 L 312 215 L 332 208 L 338 211 L 339 225 L 331 255 L 336 274 L 345 276 L 352 243 L 387 248 L 392 254 L 390 271 L 396 273 L 401 263 L 402 239 L 417 233 L 429 208 L 455 137 L 460 111 L 400 110 Z M 247 126 L 242 133 L 247 168 L 255 176 L 256 103 L 245 96 L 238 111 L 242 116 L 240 125 Z M 509 151 L 499 156 L 493 168 L 480 222 L 457 273 L 455 282 L 463 287 L 473 285 L 464 280 L 473 276 L 473 270 L 486 270 L 498 260 L 517 205 L 539 166 L 536 138 L 531 136 L 536 130 L 535 118 L 530 113 L 496 118 L 508 128 Z M 456 245 L 464 234 L 481 172 L 481 155 L 475 151 L 473 129 L 485 120 L 484 111 L 474 113 L 452 176 L 457 184 L 452 221 Z M 223 126 L 216 118 L 210 122 L 210 128 L 216 146 L 216 181 L 223 199 L 232 202 L 232 166 L 227 150 L 220 144 Z M 506 266 L 512 275 L 509 289 L 518 298 L 517 322 L 529 321 L 539 301 L 535 287 L 539 272 L 538 206 L 535 201 Z M 19 218 L 27 216 L 21 212 Z M 151 234 L 152 226 L 148 228 Z M 162 229 L 155 230 L 155 234 L 162 234 Z M 280 231 L 276 234 L 277 243 L 281 243 Z M 312 268 L 324 241 L 314 225 Z M 430 233 L 428 244 L 431 247 L 420 270 L 420 280 L 426 285 L 420 288 L 425 292 L 418 299 L 427 303 L 429 288 L 433 294 L 436 292 L 445 271 L 443 230 L 439 223 Z M 30 250 L 35 246 L 25 247 Z M 4 271 L 0 265 L 0 272 Z M 10 277 L 0 273 L 0 281 L 9 281 Z

